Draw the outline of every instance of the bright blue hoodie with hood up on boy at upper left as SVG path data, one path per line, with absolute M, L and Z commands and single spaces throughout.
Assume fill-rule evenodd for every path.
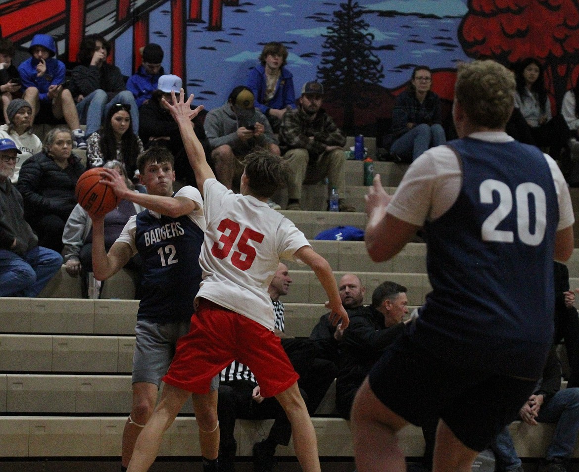
M 49 103 L 50 100 L 47 97 L 48 87 L 50 85 L 60 85 L 64 83 L 64 76 L 66 73 L 66 68 L 64 63 L 54 58 L 56 56 L 56 44 L 54 43 L 54 38 L 47 34 L 37 34 L 32 38 L 30 47 L 28 51 L 32 53 L 32 48 L 34 46 L 44 46 L 50 51 L 49 58 L 46 59 L 46 72 L 42 77 L 36 75 L 36 66 L 40 62 L 38 59 L 31 57 L 25 60 L 18 67 L 18 72 L 20 78 L 22 79 L 23 90 L 28 87 L 36 87 L 38 89 L 39 98 L 45 103 Z

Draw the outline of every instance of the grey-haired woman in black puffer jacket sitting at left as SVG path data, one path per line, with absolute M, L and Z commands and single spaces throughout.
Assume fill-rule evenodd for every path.
M 60 253 L 63 230 L 76 205 L 76 181 L 85 170 L 72 153 L 72 132 L 65 126 L 46 134 L 42 152 L 28 158 L 18 177 L 24 199 L 24 215 L 39 243 Z

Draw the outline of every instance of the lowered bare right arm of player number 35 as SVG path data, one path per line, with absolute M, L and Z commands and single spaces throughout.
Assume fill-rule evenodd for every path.
M 332 272 L 332 268 L 328 264 L 328 261 L 309 246 L 299 248 L 295 251 L 294 255 L 312 268 L 328 295 L 328 303 L 326 306 L 332 310 L 329 318 L 330 321 L 334 325 L 341 323 L 340 329 L 345 330 L 347 325 L 350 323 L 350 319 L 348 318 L 346 310 L 342 306 L 342 300 L 340 299 L 336 279 L 334 278 L 334 273 Z

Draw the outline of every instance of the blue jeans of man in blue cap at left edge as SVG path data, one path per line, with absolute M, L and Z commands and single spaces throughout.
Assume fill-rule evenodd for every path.
M 60 254 L 36 246 L 22 257 L 0 249 L 0 297 L 36 297 L 63 265 Z

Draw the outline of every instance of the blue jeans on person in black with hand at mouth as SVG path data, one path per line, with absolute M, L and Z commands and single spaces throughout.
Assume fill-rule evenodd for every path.
M 107 112 L 115 103 L 122 103 L 124 105 L 131 105 L 131 123 L 135 134 L 139 132 L 139 111 L 135 97 L 129 90 L 123 90 L 112 98 L 108 99 L 108 94 L 102 89 L 97 89 L 89 93 L 83 98 L 80 103 L 76 104 L 76 111 L 78 111 L 78 118 L 80 123 L 86 125 L 85 136 L 88 138 L 91 134 L 101 127 L 102 119 L 107 115 Z

